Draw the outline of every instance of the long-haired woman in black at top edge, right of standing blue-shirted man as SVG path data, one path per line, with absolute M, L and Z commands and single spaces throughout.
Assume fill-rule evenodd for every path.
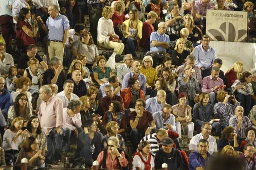
M 70 29 L 75 27 L 75 24 L 81 23 L 81 12 L 76 0 L 68 0 L 66 6 L 61 9 L 61 12 L 68 16 Z

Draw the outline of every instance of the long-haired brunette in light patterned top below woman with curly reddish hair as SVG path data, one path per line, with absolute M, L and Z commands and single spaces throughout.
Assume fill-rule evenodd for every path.
M 32 110 L 28 105 L 28 98 L 26 94 L 20 93 L 17 95 L 14 105 L 10 106 L 8 110 L 8 122 L 11 124 L 15 117 L 23 117 L 25 120 L 24 126 L 27 126 L 28 119 L 32 116 Z

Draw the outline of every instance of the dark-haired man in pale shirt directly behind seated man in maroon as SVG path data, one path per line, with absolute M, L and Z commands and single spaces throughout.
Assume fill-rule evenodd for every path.
M 116 95 L 120 95 L 120 91 L 121 91 L 121 87 L 119 86 L 119 78 L 116 76 L 116 75 L 111 75 L 109 78 L 108 78 L 108 82 L 107 83 L 104 83 L 100 86 L 100 90 L 99 92 L 102 94 L 101 97 L 105 97 L 106 96 L 106 93 L 105 93 L 105 86 L 106 85 L 112 85 L 113 88 L 114 88 L 114 94 Z

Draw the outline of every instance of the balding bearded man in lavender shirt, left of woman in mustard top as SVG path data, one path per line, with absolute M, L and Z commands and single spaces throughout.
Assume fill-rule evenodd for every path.
M 123 78 L 122 89 L 128 87 L 128 79 L 130 77 L 139 78 L 140 89 L 146 94 L 146 76 L 140 73 L 140 62 L 134 61 L 132 64 L 133 71 L 127 73 Z

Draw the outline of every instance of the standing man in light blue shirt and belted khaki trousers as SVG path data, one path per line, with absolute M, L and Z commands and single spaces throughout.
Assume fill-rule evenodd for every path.
M 48 7 L 50 17 L 46 21 L 46 25 L 40 16 L 37 20 L 41 22 L 42 28 L 48 34 L 47 42 L 47 61 L 54 56 L 59 57 L 63 61 L 64 46 L 68 40 L 69 20 L 66 16 L 61 15 L 58 6 L 53 4 Z

